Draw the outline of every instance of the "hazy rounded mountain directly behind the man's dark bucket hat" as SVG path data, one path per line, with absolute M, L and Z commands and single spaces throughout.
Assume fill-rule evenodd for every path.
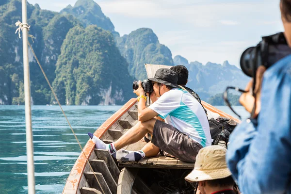
M 129 35 L 117 37 L 116 42 L 129 63 L 129 74 L 138 80 L 147 78 L 145 64 L 174 65 L 170 49 L 160 44 L 151 29 L 138 29 Z

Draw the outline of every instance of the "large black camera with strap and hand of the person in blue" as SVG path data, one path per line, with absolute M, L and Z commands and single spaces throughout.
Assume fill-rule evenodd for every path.
M 250 47 L 243 51 L 240 59 L 242 72 L 253 79 L 248 83 L 245 90 L 232 86 L 226 88 L 224 99 L 233 113 L 241 118 L 241 116 L 232 109 L 228 101 L 227 91 L 229 89 L 242 92 L 240 103 L 251 113 L 252 118 L 258 116 L 261 107 L 260 89 L 264 72 L 277 61 L 290 54 L 291 48 L 288 46 L 283 32 L 264 36 L 256 47 Z

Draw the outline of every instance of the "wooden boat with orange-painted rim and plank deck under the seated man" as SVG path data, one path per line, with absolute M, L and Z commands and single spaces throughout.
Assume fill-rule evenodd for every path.
M 99 129 L 95 131 L 94 135 L 105 143 L 112 143 L 119 139 L 128 129 L 138 122 L 136 102 L 137 100 L 135 98 L 130 99 L 120 110 L 105 121 Z M 218 113 L 224 117 L 233 118 L 205 102 L 203 102 L 203 105 L 211 112 Z M 237 119 L 234 120 L 239 122 Z M 124 147 L 124 149 L 140 150 L 145 145 L 146 142 L 139 141 L 136 144 Z M 120 193 L 118 191 L 121 191 L 119 186 L 122 184 L 119 185 L 119 182 L 122 180 L 121 175 L 124 173 L 127 176 L 132 175 L 134 177 L 135 171 L 141 168 L 172 168 L 186 170 L 193 169 L 194 167 L 194 163 L 182 162 L 165 156 L 144 158 L 139 162 L 118 161 L 116 163 L 108 151 L 95 149 L 95 144 L 91 140 L 84 146 L 83 152 L 88 158 L 93 172 L 87 164 L 84 154 L 81 153 L 67 178 L 63 194 L 123 194 L 124 192 Z M 121 167 L 127 168 L 121 170 Z M 97 179 L 94 175 L 96 175 Z M 139 178 L 135 179 L 134 184 L 132 182 L 132 184 L 129 185 L 130 188 L 133 186 L 132 193 L 144 194 L 145 192 L 142 191 L 136 192 L 140 188 L 137 184 L 143 185 L 144 182 Z M 137 188 L 135 189 L 136 191 L 134 191 L 134 188 Z M 146 188 L 146 186 L 144 185 L 143 188 Z M 150 192 L 146 192 L 146 194 L 150 194 Z

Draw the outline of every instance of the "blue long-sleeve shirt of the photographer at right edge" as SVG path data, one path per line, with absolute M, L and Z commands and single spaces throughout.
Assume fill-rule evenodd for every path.
M 243 194 L 291 194 L 291 55 L 264 73 L 258 120 L 234 129 L 226 161 Z

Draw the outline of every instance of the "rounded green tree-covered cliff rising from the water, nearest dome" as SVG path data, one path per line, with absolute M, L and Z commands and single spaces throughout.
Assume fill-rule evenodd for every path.
M 110 32 L 76 26 L 64 40 L 53 88 L 66 105 L 122 104 L 132 94 L 127 67 Z

